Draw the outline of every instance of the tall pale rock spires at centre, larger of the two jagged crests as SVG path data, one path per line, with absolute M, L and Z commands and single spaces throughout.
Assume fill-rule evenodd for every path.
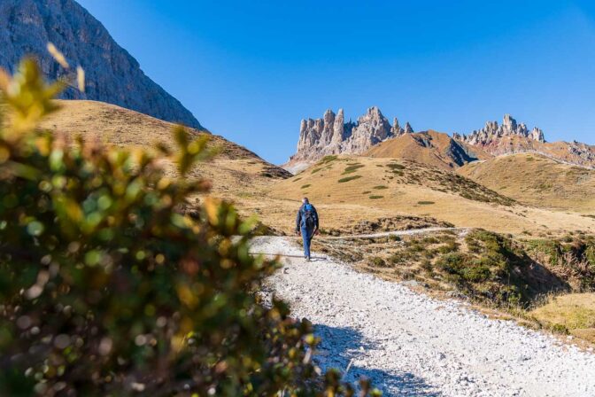
M 375 106 L 367 109 L 357 122 L 345 122 L 343 109 L 336 114 L 328 110 L 321 119 L 302 120 L 298 152 L 290 161 L 313 161 L 329 154 L 363 153 L 386 139 L 412 132 L 408 122 L 401 128 L 396 118 L 391 126 Z

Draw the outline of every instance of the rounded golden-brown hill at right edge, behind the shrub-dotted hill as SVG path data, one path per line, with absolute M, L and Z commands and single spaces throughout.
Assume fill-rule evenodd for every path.
M 458 172 L 531 206 L 595 214 L 595 170 L 522 153 L 470 163 Z

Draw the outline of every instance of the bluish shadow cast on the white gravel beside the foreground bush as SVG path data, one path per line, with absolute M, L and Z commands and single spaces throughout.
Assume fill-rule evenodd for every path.
M 314 360 L 324 370 L 335 368 L 344 374 L 353 360 L 347 374 L 344 374 L 346 382 L 353 384 L 361 377 L 368 378 L 374 387 L 383 391 L 383 396 L 438 397 L 442 395 L 437 393 L 423 378 L 412 373 L 398 370 L 387 372 L 358 366 L 356 362 L 359 359 L 367 359 L 369 362 L 367 351 L 376 348 L 374 344 L 365 340 L 359 331 L 351 328 L 328 327 L 322 324 L 316 324 L 314 331 L 322 339 L 319 354 L 315 356 Z

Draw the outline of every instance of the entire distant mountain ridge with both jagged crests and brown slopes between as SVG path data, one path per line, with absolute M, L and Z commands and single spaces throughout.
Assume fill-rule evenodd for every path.
M 431 141 L 439 144 L 432 145 Z M 432 156 L 422 153 L 432 150 Z M 433 129 L 414 133 L 408 122 L 402 128 L 396 118 L 390 125 L 376 106 L 368 108 L 356 123 L 344 122 L 343 109 L 337 114 L 328 110 L 321 119 L 302 120 L 298 150 L 282 167 L 296 173 L 327 155 L 358 154 L 427 160 L 437 167 L 456 168 L 516 152 L 538 152 L 568 164 L 595 167 L 595 146 L 576 141 L 549 143 L 541 128 L 529 129 L 510 114 L 504 115 L 501 124 L 487 121 L 483 128 L 467 135 L 455 132 L 450 136 Z

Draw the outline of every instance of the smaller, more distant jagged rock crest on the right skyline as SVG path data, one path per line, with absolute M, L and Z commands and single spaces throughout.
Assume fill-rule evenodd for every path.
M 475 130 L 469 135 L 455 134 L 453 137 L 467 144 L 489 146 L 506 136 L 521 136 L 542 144 L 545 143 L 545 136 L 541 129 L 535 127 L 529 131 L 524 123 L 517 124 L 510 114 L 504 115 L 501 125 L 498 125 L 498 121 L 488 121 L 485 123 L 485 127 Z

